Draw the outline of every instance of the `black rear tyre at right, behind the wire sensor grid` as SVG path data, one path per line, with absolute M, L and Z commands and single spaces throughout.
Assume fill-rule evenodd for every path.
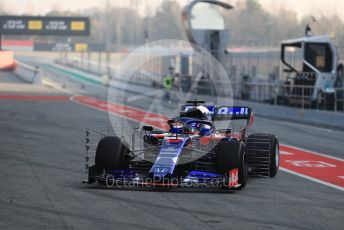
M 279 142 L 275 135 L 252 134 L 246 140 L 253 175 L 275 177 L 279 168 Z

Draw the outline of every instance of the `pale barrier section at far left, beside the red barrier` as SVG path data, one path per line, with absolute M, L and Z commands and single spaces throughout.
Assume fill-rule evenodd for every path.
M 24 81 L 35 84 L 35 85 L 41 85 L 42 84 L 42 70 L 37 66 L 31 66 L 24 64 L 22 62 L 16 62 L 16 69 L 14 70 L 14 73 L 23 79 Z

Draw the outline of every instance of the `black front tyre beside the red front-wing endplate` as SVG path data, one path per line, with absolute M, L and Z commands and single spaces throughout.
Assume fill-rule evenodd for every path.
M 239 170 L 238 183 L 243 189 L 248 179 L 248 163 L 246 158 L 246 147 L 241 141 L 222 141 L 216 147 L 216 168 L 220 174 L 227 174 L 232 169 Z

